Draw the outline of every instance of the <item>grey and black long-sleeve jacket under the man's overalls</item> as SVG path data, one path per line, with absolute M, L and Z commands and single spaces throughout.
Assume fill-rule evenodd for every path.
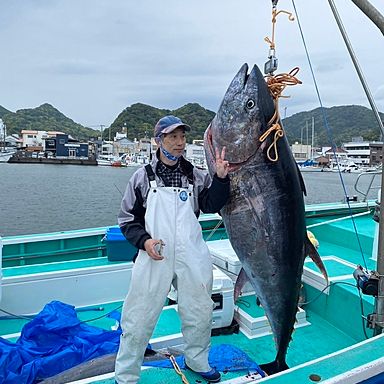
M 163 180 L 156 174 L 159 160 L 156 156 L 151 162 L 159 187 L 164 187 Z M 182 188 L 188 188 L 188 179 L 193 180 L 194 212 L 196 217 L 200 211 L 216 213 L 225 205 L 229 197 L 230 181 L 227 176 L 220 179 L 217 175 L 213 178 L 208 173 L 193 167 L 185 160 L 180 159 Z M 138 169 L 131 177 L 125 190 L 121 209 L 118 215 L 118 224 L 125 238 L 135 247 L 144 249 L 144 242 L 151 236 L 145 230 L 144 215 L 147 207 L 147 196 L 150 189 L 148 175 L 145 167 Z

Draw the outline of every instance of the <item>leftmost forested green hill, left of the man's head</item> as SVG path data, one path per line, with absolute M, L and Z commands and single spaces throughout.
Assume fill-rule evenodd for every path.
M 0 106 L 0 117 L 7 126 L 7 133 L 18 133 L 23 129 L 39 131 L 60 131 L 79 140 L 97 137 L 98 132 L 75 123 L 50 104 L 42 104 L 37 108 L 20 109 L 10 112 Z

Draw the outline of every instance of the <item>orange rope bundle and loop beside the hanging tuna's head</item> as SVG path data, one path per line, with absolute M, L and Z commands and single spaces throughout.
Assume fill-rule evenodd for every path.
M 296 77 L 299 72 L 299 67 L 293 68 L 289 73 L 281 73 L 278 75 L 268 75 L 266 76 L 266 82 L 273 97 L 275 103 L 275 113 L 272 118 L 269 120 L 267 127 L 268 129 L 260 136 L 259 141 L 262 143 L 266 138 L 274 132 L 273 141 L 267 149 L 267 157 L 270 161 L 279 160 L 279 154 L 277 151 L 277 141 L 284 136 L 284 130 L 280 125 L 280 114 L 279 114 L 279 98 L 280 97 L 289 97 L 283 96 L 282 93 L 284 89 L 289 85 L 302 84 L 302 82 Z M 275 152 L 274 157 L 271 155 L 272 149 Z

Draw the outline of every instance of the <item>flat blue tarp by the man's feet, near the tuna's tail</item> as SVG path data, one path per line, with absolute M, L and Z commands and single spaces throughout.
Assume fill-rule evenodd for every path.
M 181 369 L 185 368 L 184 356 L 175 358 Z M 257 371 L 262 377 L 264 372 L 260 369 L 246 353 L 241 349 L 229 344 L 213 345 L 208 357 L 209 365 L 218 371 Z M 173 368 L 169 359 L 148 361 L 144 365 L 161 368 Z

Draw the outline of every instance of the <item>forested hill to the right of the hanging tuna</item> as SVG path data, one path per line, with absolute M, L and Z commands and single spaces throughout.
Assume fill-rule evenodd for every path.
M 324 112 L 324 114 L 323 114 Z M 324 124 L 323 115 L 328 121 L 329 130 Z M 362 136 L 367 141 L 380 141 L 381 133 L 374 113 L 361 105 L 345 105 L 331 108 L 316 108 L 312 111 L 300 112 L 283 120 L 284 128 L 290 144 L 295 141 L 311 144 L 312 117 L 314 118 L 314 145 L 327 146 L 335 143 L 351 141 L 354 136 Z M 380 113 L 382 120 L 384 114 Z M 308 136 L 307 136 L 308 127 Z

